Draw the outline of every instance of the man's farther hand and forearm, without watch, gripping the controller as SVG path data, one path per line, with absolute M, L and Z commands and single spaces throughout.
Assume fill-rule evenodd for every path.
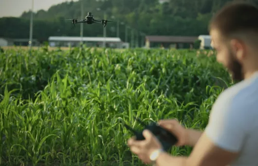
M 158 124 L 177 137 L 177 146 L 194 146 L 203 133 L 203 131 L 184 128 L 176 119 L 160 120 Z

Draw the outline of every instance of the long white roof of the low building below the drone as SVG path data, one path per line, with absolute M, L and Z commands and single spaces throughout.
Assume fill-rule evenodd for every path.
M 66 42 L 80 42 L 81 37 L 70 37 L 70 36 L 50 36 L 49 41 L 66 41 Z M 83 37 L 84 42 L 122 42 L 120 38 L 108 38 L 106 37 Z

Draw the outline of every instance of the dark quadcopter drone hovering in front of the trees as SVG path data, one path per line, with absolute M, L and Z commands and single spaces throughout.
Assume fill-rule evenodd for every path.
M 101 21 L 95 20 L 95 19 L 93 18 L 93 15 L 92 15 L 91 12 L 88 12 L 86 18 L 83 19 L 83 20 L 79 20 L 79 21 L 78 21 L 78 19 L 67 19 L 67 20 L 71 20 L 72 23 L 74 24 L 74 27 L 75 27 L 75 24 L 76 24 L 76 23 L 87 23 L 87 24 L 101 23 L 102 25 L 104 25 L 104 28 L 106 27 L 108 21 L 110 21 L 110 20 L 101 20 Z

